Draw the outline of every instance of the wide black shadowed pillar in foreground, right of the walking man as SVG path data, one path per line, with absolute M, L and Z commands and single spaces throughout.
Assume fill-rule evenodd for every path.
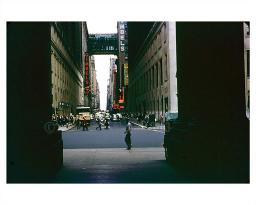
M 178 118 L 166 134 L 168 159 L 213 182 L 249 180 L 242 26 L 176 22 Z

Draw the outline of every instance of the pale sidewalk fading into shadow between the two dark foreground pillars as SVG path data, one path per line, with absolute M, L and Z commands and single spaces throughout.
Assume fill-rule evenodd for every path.
M 165 161 L 162 147 L 63 149 L 49 183 L 196 183 Z

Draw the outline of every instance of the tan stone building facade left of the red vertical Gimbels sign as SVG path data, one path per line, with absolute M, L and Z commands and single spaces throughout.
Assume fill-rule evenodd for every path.
M 69 115 L 73 106 L 89 103 L 83 87 L 86 29 L 84 22 L 51 23 L 52 114 Z

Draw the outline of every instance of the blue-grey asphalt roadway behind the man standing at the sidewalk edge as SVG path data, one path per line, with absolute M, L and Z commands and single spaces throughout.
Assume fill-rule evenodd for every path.
M 104 126 L 101 126 L 101 130 L 99 128 L 96 130 L 95 120 L 92 120 L 90 126 L 88 126 L 88 131 L 86 129 L 83 131 L 82 127 L 79 130 L 74 127 L 68 131 L 63 131 L 63 149 L 126 148 L 124 120 L 121 119 L 119 122 L 109 121 L 109 125 L 110 129 L 104 129 Z M 132 147 L 161 147 L 163 134 L 163 130 L 153 131 L 132 124 Z

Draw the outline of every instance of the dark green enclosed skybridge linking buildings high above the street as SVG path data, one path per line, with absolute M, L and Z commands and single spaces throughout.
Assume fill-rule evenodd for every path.
M 88 36 L 89 55 L 118 54 L 117 33 L 93 33 Z

